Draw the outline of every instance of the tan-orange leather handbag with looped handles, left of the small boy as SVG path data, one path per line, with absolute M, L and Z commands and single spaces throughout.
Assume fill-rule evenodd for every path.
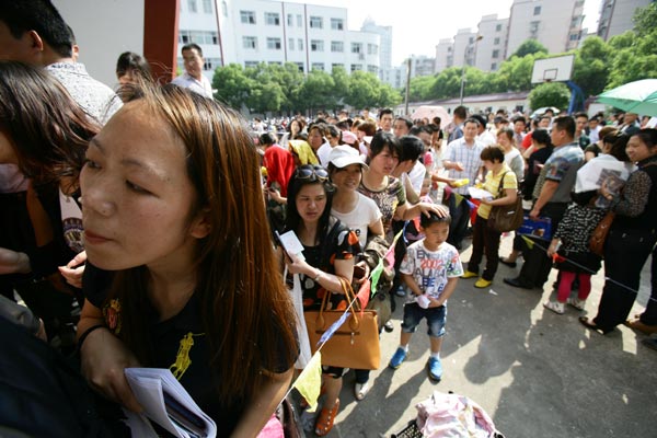
M 347 302 L 354 301 L 355 295 L 351 285 L 343 278 L 341 278 L 341 283 Z M 303 312 L 313 355 L 318 350 L 318 343 L 322 335 L 345 313 L 345 310 L 326 310 L 330 296 L 331 292 L 324 295 L 319 311 Z M 361 310 L 358 300 L 354 302 L 348 312 L 346 321 L 322 347 L 322 365 L 354 369 L 378 369 L 381 362 L 381 347 L 379 345 L 377 312 L 374 310 Z

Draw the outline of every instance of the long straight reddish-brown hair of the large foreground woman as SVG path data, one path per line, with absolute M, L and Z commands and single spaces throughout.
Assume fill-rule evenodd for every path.
M 221 403 L 247 400 L 297 355 L 296 315 L 275 262 L 256 147 L 241 116 L 211 99 L 171 84 L 146 85 L 140 94 L 184 142 L 197 193 L 191 216 L 203 209 L 210 223 L 196 254 L 205 366 L 221 379 L 212 382 Z M 123 270 L 111 293 L 122 302 L 119 335 L 145 365 L 152 357 L 143 321 L 147 276 L 145 267 Z

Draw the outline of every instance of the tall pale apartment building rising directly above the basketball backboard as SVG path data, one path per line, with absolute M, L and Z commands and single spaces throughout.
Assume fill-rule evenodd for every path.
M 577 48 L 583 21 L 584 0 L 514 0 L 505 59 L 530 38 L 551 54 Z

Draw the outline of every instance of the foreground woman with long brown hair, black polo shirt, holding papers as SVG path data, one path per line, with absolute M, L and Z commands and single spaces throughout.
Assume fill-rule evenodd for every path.
M 257 435 L 298 348 L 244 122 L 187 90 L 147 88 L 87 159 L 87 253 L 103 270 L 84 277 L 83 373 L 139 411 L 124 368 L 170 368 L 218 436 Z

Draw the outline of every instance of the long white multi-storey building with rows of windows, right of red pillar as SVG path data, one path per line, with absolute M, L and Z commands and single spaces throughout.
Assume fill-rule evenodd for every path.
M 209 9 L 219 7 L 219 13 Z M 217 24 L 218 23 L 218 24 Z M 178 44 L 199 44 L 216 67 L 295 62 L 299 70 L 343 67 L 378 74 L 381 36 L 347 30 L 347 9 L 268 0 L 181 0 Z M 223 60 L 223 62 L 221 62 Z M 178 59 L 182 65 L 182 58 Z

